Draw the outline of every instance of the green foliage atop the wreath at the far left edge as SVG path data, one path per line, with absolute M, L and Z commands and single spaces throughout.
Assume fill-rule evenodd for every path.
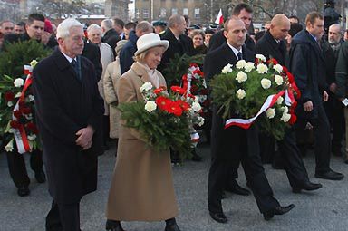
M 52 50 L 37 43 L 35 40 L 23 41 L 18 43 L 6 43 L 4 51 L 0 53 L 0 78 L 9 75 L 18 78 L 23 75 L 24 65 L 32 60 L 42 60 L 47 57 Z

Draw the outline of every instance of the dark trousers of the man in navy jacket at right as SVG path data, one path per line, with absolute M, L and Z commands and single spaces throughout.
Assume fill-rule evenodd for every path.
M 330 124 L 323 103 L 318 103 L 315 110 L 317 110 L 317 118 L 311 120 L 314 127 L 315 172 L 324 173 L 330 170 Z M 307 120 L 299 118 L 295 123 L 296 130 L 304 130 L 306 123 Z

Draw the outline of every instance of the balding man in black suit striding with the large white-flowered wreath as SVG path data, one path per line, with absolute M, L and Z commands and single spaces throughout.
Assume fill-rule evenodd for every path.
M 238 60 L 254 60 L 254 54 L 243 44 L 247 29 L 242 20 L 232 18 L 227 21 L 224 35 L 227 43 L 215 51 L 208 53 L 205 59 L 205 74 L 208 79 L 221 72 L 227 63 L 236 64 Z M 237 116 L 237 112 L 234 112 Z M 208 209 L 210 216 L 220 223 L 226 223 L 221 205 L 221 194 L 226 187 L 230 168 L 237 168 L 242 163 L 247 181 L 256 198 L 257 206 L 266 220 L 275 215 L 290 211 L 294 205 L 281 207 L 273 197 L 264 168 L 261 163 L 258 148 L 257 130 L 254 125 L 248 130 L 239 127 L 224 128 L 225 120 L 218 114 L 218 108 L 213 105 L 213 120 L 211 130 L 212 162 L 208 175 Z

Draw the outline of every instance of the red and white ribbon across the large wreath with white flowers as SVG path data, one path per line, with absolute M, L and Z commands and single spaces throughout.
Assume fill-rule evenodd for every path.
M 257 112 L 256 116 L 250 119 L 229 119 L 225 123 L 225 129 L 231 127 L 231 126 L 238 126 L 243 129 L 248 129 L 251 124 L 257 119 L 257 117 L 262 114 L 264 111 L 272 107 L 275 102 L 278 100 L 278 98 L 285 94 L 285 91 L 280 91 L 277 94 L 272 94 L 267 97 L 266 101 L 262 105 L 260 111 Z

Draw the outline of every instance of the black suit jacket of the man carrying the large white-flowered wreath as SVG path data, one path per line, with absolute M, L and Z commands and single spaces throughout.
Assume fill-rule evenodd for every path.
M 246 46 L 243 46 L 243 59 L 246 61 L 254 62 L 254 53 L 249 51 Z M 210 80 L 215 75 L 221 73 L 222 69 L 231 63 L 235 65 L 237 63 L 237 57 L 233 53 L 232 49 L 223 43 L 218 49 L 208 53 L 205 62 L 205 78 Z M 218 78 L 218 77 L 215 77 Z M 249 137 L 256 137 L 256 129 L 254 126 L 250 130 L 243 130 L 238 127 L 230 127 L 225 129 L 225 121 L 220 115 L 218 115 L 218 107 L 213 104 L 213 119 L 211 129 L 211 153 L 214 158 L 232 160 L 234 166 L 237 168 L 240 160 L 242 149 L 237 147 L 250 146 L 252 139 Z M 252 133 L 250 136 L 247 133 Z M 257 141 L 257 140 L 255 140 Z M 234 149 L 236 147 L 236 149 Z M 251 145 L 250 149 L 258 149 L 258 144 Z

